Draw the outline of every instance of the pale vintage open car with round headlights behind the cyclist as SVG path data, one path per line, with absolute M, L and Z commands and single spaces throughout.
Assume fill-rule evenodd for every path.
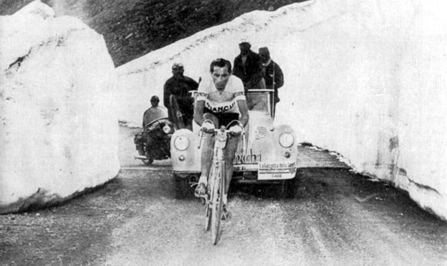
M 273 90 L 256 89 L 247 93 L 250 120 L 245 127 L 245 147 L 239 142 L 234 158 L 232 183 L 279 184 L 281 193 L 293 193 L 290 181 L 295 178 L 298 143 L 290 125 L 274 127 Z M 195 95 L 194 95 L 195 97 Z M 191 184 L 200 177 L 200 128 L 180 129 L 171 138 L 171 160 L 176 198 L 192 194 Z

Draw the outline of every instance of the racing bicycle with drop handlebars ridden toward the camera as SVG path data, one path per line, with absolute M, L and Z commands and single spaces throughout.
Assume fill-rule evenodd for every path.
M 204 123 L 214 123 L 210 120 L 204 121 Z M 230 122 L 227 128 L 232 123 L 241 123 L 237 120 Z M 226 127 L 221 126 L 219 129 L 202 130 L 200 132 L 200 143 L 202 142 L 203 132 L 215 134 L 215 145 L 213 152 L 213 162 L 211 164 L 210 173 L 208 175 L 208 185 L 206 187 L 206 197 L 201 198 L 202 204 L 205 205 L 205 230 L 211 229 L 211 240 L 214 245 L 217 245 L 220 239 L 220 226 L 222 213 L 224 208 L 223 194 L 225 193 L 226 186 L 226 168 L 224 161 L 223 149 L 226 147 L 228 135 L 237 136 L 241 135 L 242 147 L 244 147 L 245 134 L 243 132 L 243 126 L 241 125 L 241 132 L 232 132 L 227 130 Z

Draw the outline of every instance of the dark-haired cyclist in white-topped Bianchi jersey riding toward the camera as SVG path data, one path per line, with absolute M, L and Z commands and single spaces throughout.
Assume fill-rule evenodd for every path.
M 231 121 L 239 120 L 243 126 L 248 123 L 247 103 L 245 102 L 245 92 L 243 83 L 239 77 L 232 74 L 231 63 L 228 60 L 219 58 L 210 64 L 211 78 L 202 81 L 199 85 L 197 101 L 195 105 L 194 121 L 202 126 L 204 131 L 210 129 L 213 121 L 215 127 L 227 126 Z M 230 128 L 233 132 L 240 132 L 241 127 L 234 125 Z M 204 144 L 202 146 L 202 174 L 199 184 L 195 189 L 196 197 L 206 196 L 206 184 L 208 173 L 213 160 L 213 147 L 215 139 L 211 134 L 204 134 Z M 226 187 L 223 195 L 224 216 L 228 219 L 230 213 L 227 209 L 227 194 L 233 173 L 233 160 L 236 153 L 239 137 L 230 137 L 224 149 L 224 160 L 226 163 Z

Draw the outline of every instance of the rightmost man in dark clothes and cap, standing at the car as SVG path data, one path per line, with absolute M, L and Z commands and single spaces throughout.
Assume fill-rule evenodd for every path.
M 271 60 L 270 52 L 267 47 L 259 48 L 259 56 L 261 56 L 261 73 L 265 81 L 265 87 L 275 90 L 273 99 L 274 114 L 276 112 L 276 103 L 280 101 L 278 97 L 278 88 L 281 88 L 284 84 L 284 75 L 282 74 L 280 66 Z

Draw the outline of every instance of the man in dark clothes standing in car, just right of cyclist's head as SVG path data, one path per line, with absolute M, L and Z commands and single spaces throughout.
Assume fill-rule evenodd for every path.
M 250 50 L 252 45 L 247 42 L 239 44 L 241 53 L 234 58 L 233 75 L 239 77 L 243 82 L 245 93 L 250 88 L 260 88 L 261 82 L 261 58 L 257 53 Z

